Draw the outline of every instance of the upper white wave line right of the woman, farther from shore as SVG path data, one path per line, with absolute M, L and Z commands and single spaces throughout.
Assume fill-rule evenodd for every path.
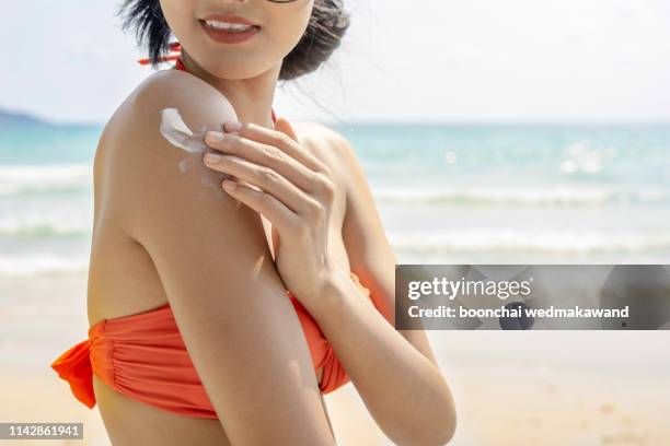
M 517 204 L 599 206 L 607 203 L 652 203 L 670 199 L 661 189 L 616 189 L 575 187 L 396 187 L 373 189 L 380 202 L 404 204 Z

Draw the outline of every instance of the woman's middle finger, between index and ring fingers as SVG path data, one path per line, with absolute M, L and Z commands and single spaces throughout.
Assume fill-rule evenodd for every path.
M 311 171 L 276 146 L 256 142 L 239 134 L 216 131 L 208 132 L 205 142 L 212 149 L 226 154 L 235 155 L 277 172 L 309 195 L 320 195 L 323 190 L 322 183 L 325 178 L 321 174 Z M 206 164 L 207 159 L 205 159 Z M 218 169 L 217 164 L 207 165 Z

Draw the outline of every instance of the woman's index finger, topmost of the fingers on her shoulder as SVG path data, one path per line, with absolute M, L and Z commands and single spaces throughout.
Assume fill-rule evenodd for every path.
M 281 131 L 257 126 L 253 122 L 239 122 L 238 126 L 231 127 L 231 122 L 228 121 L 223 124 L 222 128 L 224 131 L 231 131 L 229 129 L 234 128 L 236 129 L 234 130 L 235 133 L 243 138 L 275 146 L 311 171 L 326 172 L 325 164 L 298 143 L 298 138 L 294 132 L 293 137 L 296 138 L 292 139 L 291 136 L 282 133 Z

